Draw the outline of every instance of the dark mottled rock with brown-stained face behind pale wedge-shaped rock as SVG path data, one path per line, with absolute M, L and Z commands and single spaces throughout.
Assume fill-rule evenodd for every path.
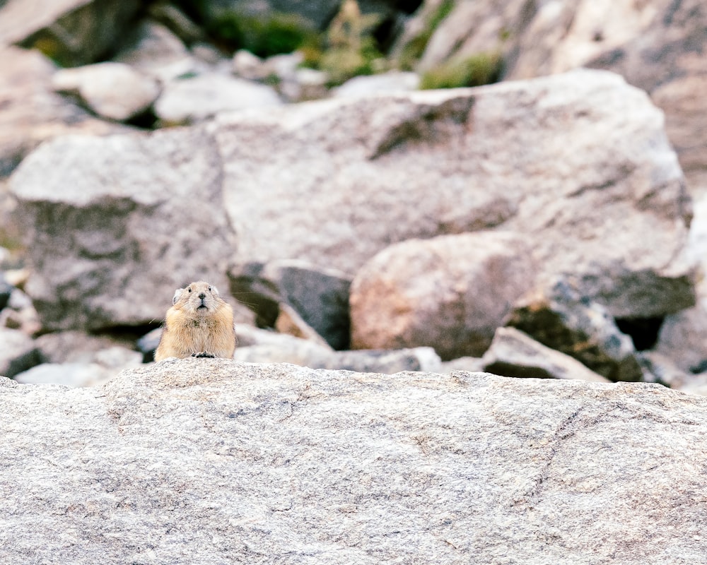
M 578 295 L 570 280 L 558 280 L 548 289 L 522 297 L 506 325 L 578 359 L 612 381 L 641 378 L 631 336 L 619 331 L 606 309 Z

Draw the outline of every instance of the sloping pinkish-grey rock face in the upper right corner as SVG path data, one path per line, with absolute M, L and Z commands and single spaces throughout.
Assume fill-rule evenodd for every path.
M 707 189 L 705 49 L 702 0 L 457 1 L 429 40 L 420 69 L 450 57 L 502 52 L 506 79 L 580 66 L 620 73 L 665 110 L 690 184 Z

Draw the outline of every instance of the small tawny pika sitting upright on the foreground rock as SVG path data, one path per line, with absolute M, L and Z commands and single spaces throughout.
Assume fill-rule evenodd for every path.
M 233 308 L 209 283 L 178 288 L 167 311 L 155 361 L 167 357 L 233 357 Z

